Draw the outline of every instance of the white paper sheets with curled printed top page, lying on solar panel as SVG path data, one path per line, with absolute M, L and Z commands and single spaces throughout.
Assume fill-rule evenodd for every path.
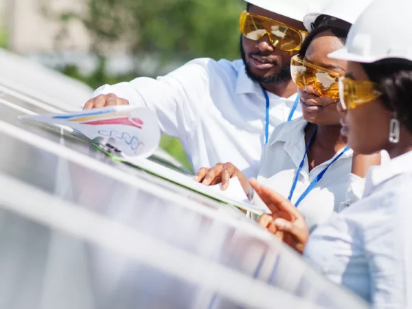
M 207 187 L 189 176 L 145 159 L 155 152 L 160 141 L 159 122 L 155 113 L 148 108 L 113 106 L 80 113 L 25 115 L 19 119 L 67 126 L 91 139 L 95 145 L 110 144 L 117 148 L 120 151 L 117 155 L 121 157 L 113 157 L 122 158 L 137 168 L 253 214 L 266 212 L 266 209 L 260 209 L 248 200 L 237 178 L 231 179 L 227 190 L 222 191 L 220 185 Z M 98 148 L 105 151 L 100 146 Z

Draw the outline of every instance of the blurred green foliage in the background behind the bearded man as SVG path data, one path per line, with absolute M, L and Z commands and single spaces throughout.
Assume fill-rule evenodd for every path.
M 52 0 L 41 1 L 45 14 L 51 16 L 47 1 Z M 136 59 L 147 55 L 156 59 L 158 68 L 152 77 L 170 62 L 198 57 L 236 59 L 238 18 L 244 8 L 243 0 L 87 0 L 84 12 L 67 11 L 54 17 L 62 24 L 60 36 L 73 19 L 82 21 L 93 36 L 92 52 L 98 55 L 100 65 L 90 76 L 82 76 L 76 67 L 62 71 L 93 88 L 144 75 L 136 63 L 127 76 L 108 76 L 106 55 L 119 43 L 126 45 Z M 161 146 L 189 168 L 178 140 L 163 137 Z

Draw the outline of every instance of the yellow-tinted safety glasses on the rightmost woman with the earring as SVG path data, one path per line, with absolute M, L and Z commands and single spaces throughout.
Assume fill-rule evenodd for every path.
M 339 78 L 339 95 L 343 111 L 354 109 L 360 105 L 367 104 L 382 93 L 378 91 L 378 84 L 367 80 L 352 80 L 342 76 Z

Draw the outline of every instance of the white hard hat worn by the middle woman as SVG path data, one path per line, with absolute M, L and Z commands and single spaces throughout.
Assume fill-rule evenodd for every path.
M 328 15 L 353 24 L 373 0 L 332 0 L 318 11 L 304 16 L 306 30 L 312 30 L 312 23 L 321 15 Z M 389 1 L 389 0 L 388 0 Z

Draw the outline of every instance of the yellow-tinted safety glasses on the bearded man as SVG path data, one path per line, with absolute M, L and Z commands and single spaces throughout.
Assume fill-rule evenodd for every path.
M 271 44 L 284 52 L 298 50 L 308 35 L 306 31 L 246 11 L 240 15 L 239 29 L 246 38 L 253 41 L 259 41 L 267 34 Z

